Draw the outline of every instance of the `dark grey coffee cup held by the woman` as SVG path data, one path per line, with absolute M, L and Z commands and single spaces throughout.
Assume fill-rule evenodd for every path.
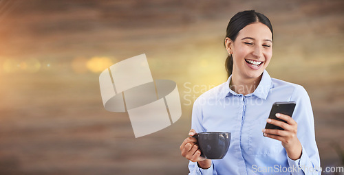
M 206 159 L 222 159 L 230 145 L 230 132 L 200 132 L 193 136 Z

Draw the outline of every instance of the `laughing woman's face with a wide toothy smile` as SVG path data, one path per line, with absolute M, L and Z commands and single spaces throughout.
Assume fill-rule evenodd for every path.
M 239 31 L 234 42 L 228 39 L 226 46 L 228 44 L 228 52 L 233 56 L 233 75 L 258 78 L 268 67 L 272 56 L 269 27 L 263 23 L 252 23 Z

